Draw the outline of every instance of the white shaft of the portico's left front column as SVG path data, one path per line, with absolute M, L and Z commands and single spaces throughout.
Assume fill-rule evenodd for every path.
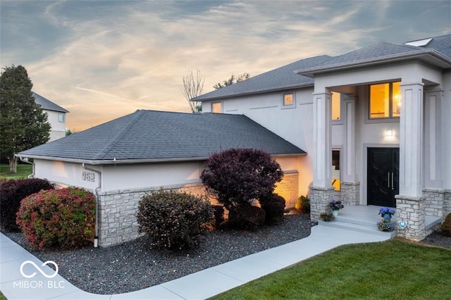
M 332 101 L 329 93 L 313 94 L 314 187 L 332 186 Z

